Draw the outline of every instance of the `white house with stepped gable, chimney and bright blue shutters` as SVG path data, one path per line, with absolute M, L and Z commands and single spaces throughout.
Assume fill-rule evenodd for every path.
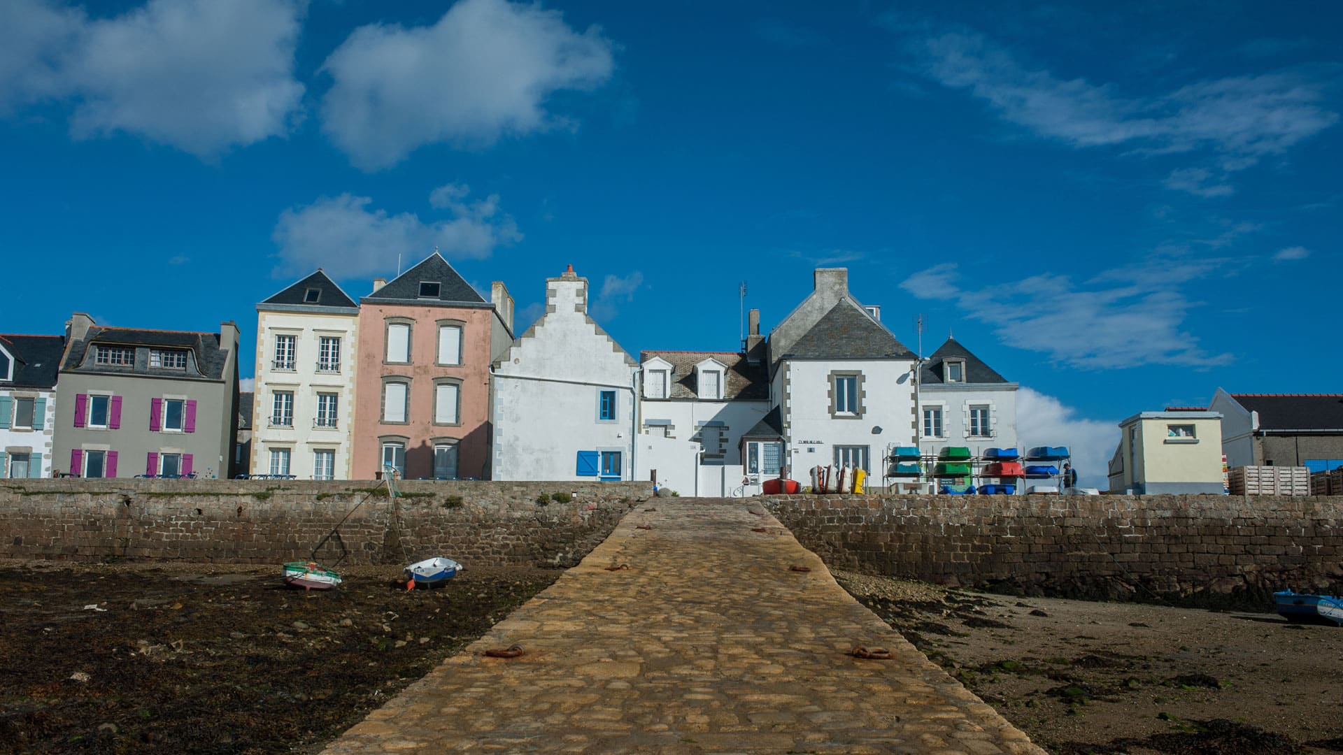
M 634 480 L 638 365 L 587 310 L 573 267 L 493 372 L 494 480 Z

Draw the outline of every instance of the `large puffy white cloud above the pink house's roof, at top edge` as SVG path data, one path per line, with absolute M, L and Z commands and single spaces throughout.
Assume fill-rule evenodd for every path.
M 365 169 L 419 146 L 488 146 L 504 134 L 560 125 L 560 90 L 591 90 L 614 69 L 596 27 L 576 32 L 559 11 L 506 0 L 459 0 L 434 26 L 371 24 L 326 59 L 334 79 L 322 128 Z

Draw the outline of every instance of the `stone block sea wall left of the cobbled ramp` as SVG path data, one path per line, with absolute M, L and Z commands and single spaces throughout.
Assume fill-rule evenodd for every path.
M 0 480 L 0 558 L 576 564 L 649 482 Z M 568 493 L 569 502 L 537 497 Z M 338 525 L 338 527 L 337 527 Z M 333 531 L 336 535 L 332 535 Z M 325 541 L 324 541 L 325 540 Z

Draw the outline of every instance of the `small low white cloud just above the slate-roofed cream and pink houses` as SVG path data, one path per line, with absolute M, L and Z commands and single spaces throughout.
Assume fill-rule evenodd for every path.
M 324 267 L 337 278 L 361 277 L 395 269 L 398 254 L 419 259 L 438 247 L 447 259 L 483 259 L 522 239 L 513 218 L 500 210 L 498 195 L 467 202 L 469 191 L 461 184 L 434 189 L 430 204 L 446 218 L 431 222 L 371 208 L 371 197 L 351 193 L 285 210 L 271 234 L 279 271 Z

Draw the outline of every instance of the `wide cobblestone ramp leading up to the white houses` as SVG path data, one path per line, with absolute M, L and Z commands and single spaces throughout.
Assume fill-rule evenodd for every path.
M 1044 752 L 740 498 L 641 505 L 326 748 L 406 751 Z

